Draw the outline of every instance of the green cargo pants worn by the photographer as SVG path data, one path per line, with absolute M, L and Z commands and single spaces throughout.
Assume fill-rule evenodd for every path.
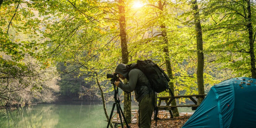
M 139 128 L 150 128 L 151 127 L 151 117 L 154 111 L 153 104 L 153 94 L 145 95 L 139 102 L 138 111 L 138 127 Z M 155 105 L 156 105 L 155 96 Z

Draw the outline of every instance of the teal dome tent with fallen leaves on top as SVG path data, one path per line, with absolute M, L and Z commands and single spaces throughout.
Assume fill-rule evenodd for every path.
M 211 88 L 182 128 L 256 128 L 256 79 L 231 78 Z

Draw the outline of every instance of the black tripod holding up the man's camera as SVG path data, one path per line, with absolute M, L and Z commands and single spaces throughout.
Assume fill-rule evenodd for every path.
M 114 80 L 114 81 L 113 81 L 113 80 Z M 119 115 L 119 117 L 120 117 L 121 126 L 122 126 L 122 128 L 124 128 L 124 124 L 123 124 L 122 117 L 121 117 L 121 114 L 122 114 L 123 117 L 124 117 L 124 113 L 123 113 L 123 111 L 122 111 L 122 108 L 121 108 L 121 106 L 120 106 L 120 100 L 119 100 L 119 98 L 118 98 L 118 88 L 117 88 L 116 85 L 114 84 L 114 83 L 115 83 L 115 79 L 112 78 L 110 81 L 111 81 L 111 84 L 113 84 L 114 90 L 115 90 L 115 94 L 114 94 L 115 103 L 113 104 L 113 107 L 112 107 L 112 110 L 111 110 L 111 113 L 110 113 L 110 116 L 109 116 L 109 120 L 108 120 L 108 123 L 107 123 L 107 128 L 108 128 L 108 126 L 109 126 L 109 124 L 110 124 L 110 121 L 111 121 L 111 118 L 112 118 L 112 115 L 113 115 L 113 111 L 114 111 L 115 106 L 117 106 L 117 113 L 118 113 L 118 115 Z M 127 124 L 127 121 L 126 121 L 125 117 L 124 117 L 124 121 L 125 121 L 126 127 L 127 127 L 127 128 L 130 128 L 130 126 Z

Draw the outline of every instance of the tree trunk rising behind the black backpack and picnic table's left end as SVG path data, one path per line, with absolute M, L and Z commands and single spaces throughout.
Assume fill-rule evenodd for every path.
M 158 1 L 158 7 L 160 8 L 161 11 L 163 11 L 163 5 L 162 5 L 162 2 L 160 0 Z M 162 29 L 163 43 L 165 44 L 164 49 L 163 49 L 163 52 L 165 54 L 165 56 L 164 56 L 165 66 L 166 66 L 168 77 L 172 80 L 173 79 L 173 74 L 172 74 L 172 69 L 171 69 L 171 62 L 170 62 L 169 48 L 168 48 L 168 39 L 167 39 L 165 24 L 162 24 L 160 26 L 160 28 Z M 171 91 L 174 93 L 173 82 L 170 82 L 169 86 L 170 86 Z M 169 92 L 169 96 L 171 96 L 170 92 Z M 176 99 L 172 100 L 171 105 L 172 106 L 177 105 L 176 104 Z M 179 110 L 178 110 L 177 107 L 174 110 L 172 110 L 172 114 L 173 114 L 174 117 L 179 117 L 180 116 Z

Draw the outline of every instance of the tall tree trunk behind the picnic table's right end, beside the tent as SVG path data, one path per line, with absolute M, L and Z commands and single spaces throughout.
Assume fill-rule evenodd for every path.
M 204 94 L 203 87 L 203 38 L 202 38 L 202 28 L 200 23 L 199 11 L 197 6 L 197 1 L 194 0 L 192 2 L 193 15 L 195 21 L 195 29 L 196 29 L 196 50 L 197 50 L 197 88 L 198 94 Z M 203 97 L 198 97 L 197 105 L 199 105 L 203 101 Z

